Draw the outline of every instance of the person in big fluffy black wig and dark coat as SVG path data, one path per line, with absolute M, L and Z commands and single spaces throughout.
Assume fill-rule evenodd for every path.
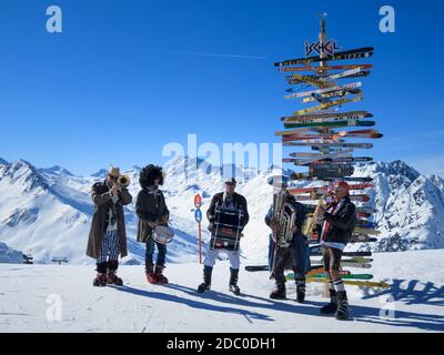
M 142 190 L 139 192 L 135 213 L 139 216 L 138 242 L 147 244 L 145 275 L 150 284 L 168 284 L 163 275 L 167 257 L 167 244 L 155 240 L 155 229 L 159 225 L 168 226 L 170 212 L 165 197 L 159 186 L 163 185 L 161 166 L 150 164 L 142 169 L 139 179 Z M 154 248 L 158 248 L 155 265 L 153 264 Z

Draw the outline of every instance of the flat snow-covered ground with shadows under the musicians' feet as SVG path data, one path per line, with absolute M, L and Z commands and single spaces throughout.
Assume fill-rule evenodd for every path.
M 268 273 L 242 271 L 243 295 L 235 297 L 228 293 L 226 262 L 216 264 L 212 291 L 204 295 L 195 293 L 198 263 L 170 264 L 168 286 L 147 284 L 142 266 L 122 266 L 120 288 L 92 287 L 91 266 L 1 264 L 0 332 L 444 332 L 444 251 L 374 260 L 375 280 L 393 287 L 347 286 L 351 322 L 319 315 L 326 301 L 322 284 L 309 284 L 303 305 L 290 283 L 290 300 L 272 301 Z

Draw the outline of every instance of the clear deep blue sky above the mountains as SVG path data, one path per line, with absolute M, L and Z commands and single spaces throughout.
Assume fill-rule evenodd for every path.
M 50 4 L 63 10 L 61 34 L 46 31 Z M 384 4 L 396 33 L 379 31 Z M 303 57 L 324 11 L 344 49 L 376 48 L 365 100 L 347 109 L 373 112 L 386 135 L 359 154 L 444 174 L 440 0 L 3 0 L 0 156 L 88 174 L 162 163 L 162 146 L 188 133 L 278 142 L 278 118 L 297 105 L 273 62 Z

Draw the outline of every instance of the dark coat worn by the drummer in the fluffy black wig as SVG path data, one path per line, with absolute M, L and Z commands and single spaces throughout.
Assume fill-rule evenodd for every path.
M 140 243 L 147 243 L 151 237 L 152 227 L 148 222 L 167 223 L 170 217 L 162 191 L 152 187 L 143 187 L 139 192 L 135 213 L 139 217 L 137 240 Z

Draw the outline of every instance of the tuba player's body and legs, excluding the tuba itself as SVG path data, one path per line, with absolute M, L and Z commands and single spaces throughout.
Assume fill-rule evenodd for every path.
M 285 186 L 284 186 L 285 187 Z M 305 274 L 310 270 L 310 248 L 309 241 L 305 235 L 302 234 L 302 226 L 305 221 L 305 207 L 303 204 L 296 202 L 293 195 L 287 191 L 284 194 L 284 204 L 290 204 L 294 207 L 295 213 L 294 225 L 290 227 L 292 232 L 292 241 L 284 247 L 278 245 L 275 235 L 270 235 L 269 245 L 269 270 L 272 272 L 272 277 L 275 280 L 275 288 L 270 294 L 270 298 L 273 300 L 285 300 L 285 267 L 289 266 L 294 272 L 294 278 L 296 282 L 296 296 L 297 302 L 303 303 L 305 301 Z M 285 211 L 291 213 L 290 211 Z M 269 210 L 265 216 L 265 223 L 272 231 L 278 231 L 280 227 L 279 221 L 274 219 L 273 207 Z

